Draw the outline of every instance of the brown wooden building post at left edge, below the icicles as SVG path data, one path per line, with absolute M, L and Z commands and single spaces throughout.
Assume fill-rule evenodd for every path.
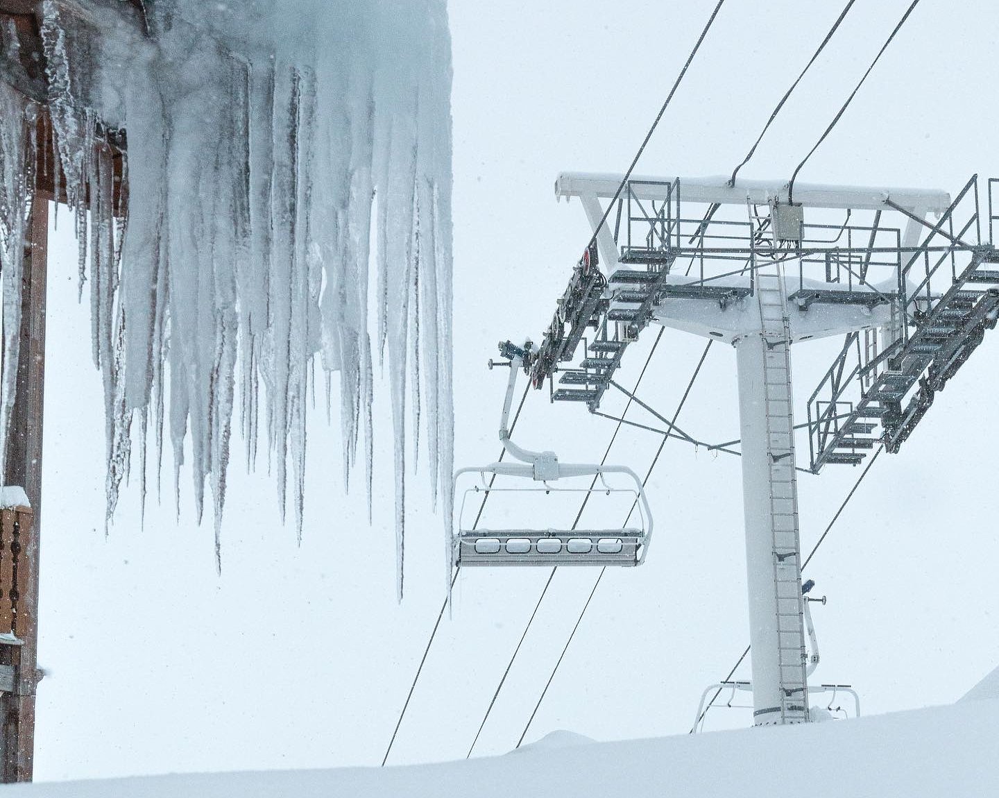
M 35 755 L 35 688 L 38 684 L 38 554 L 42 506 L 42 406 L 45 398 L 45 285 L 49 204 L 35 197 L 24 258 L 21 355 L 11 417 L 4 484 L 21 485 L 33 509 L 20 523 L 17 636 L 21 646 L 3 646 L 14 666 L 13 691 L 0 700 L 3 782 L 31 781 Z M 27 528 L 25 528 L 27 527 Z

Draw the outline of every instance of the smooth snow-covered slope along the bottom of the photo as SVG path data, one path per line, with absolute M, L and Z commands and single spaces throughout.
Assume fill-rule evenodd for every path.
M 409 767 L 172 775 L 20 785 L 32 798 L 688 795 L 721 798 L 999 794 L 999 701 L 859 720 L 613 743 L 558 733 L 512 754 Z M 574 744 L 572 744 L 574 743 Z

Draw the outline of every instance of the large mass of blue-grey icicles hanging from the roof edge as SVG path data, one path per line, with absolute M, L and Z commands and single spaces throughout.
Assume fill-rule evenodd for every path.
M 198 16 L 216 4 L 146 5 L 144 33 L 120 21 L 85 24 L 43 4 L 51 124 L 32 125 L 30 104 L 3 96 L 3 280 L 19 283 L 30 204 L 30 187 L 13 185 L 8 173 L 25 162 L 22 129 L 38 129 L 46 141 L 27 146 L 48 146 L 51 137 L 62 167 L 57 194 L 75 214 L 81 292 L 89 285 L 107 410 L 108 515 L 133 439 L 145 496 L 147 433 L 157 473 L 169 437 L 175 484 L 189 436 L 199 518 L 211 486 L 217 556 L 234 418 L 248 467 L 266 435 L 283 515 L 291 479 L 301 536 L 317 361 L 328 405 L 339 373 L 345 479 L 364 462 L 371 512 L 374 370 L 384 359 L 402 596 L 405 473 L 421 427 L 435 505 L 439 491 L 448 513 L 452 501 L 445 2 L 300 0 L 289 9 L 278 0 L 270 11 L 248 2 L 244 17 L 230 8 L 221 20 Z M 292 30 L 282 28 L 288 18 Z M 116 167 L 108 131 L 118 129 L 127 154 Z M 10 296 L 5 332 L 15 321 L 8 312 L 19 310 Z M 16 356 L 17 325 L 10 329 L 5 354 L 13 347 Z

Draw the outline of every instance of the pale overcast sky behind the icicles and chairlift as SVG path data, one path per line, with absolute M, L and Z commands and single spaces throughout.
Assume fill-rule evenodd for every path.
M 744 177 L 789 177 L 907 5 L 856 3 Z M 451 4 L 459 464 L 497 454 L 505 376 L 485 367 L 495 342 L 537 339 L 588 237 L 578 205 L 554 203 L 555 175 L 624 169 L 712 6 Z M 839 10 L 727 0 L 639 171 L 730 170 Z M 997 25 L 993 4 L 923 0 L 801 179 L 956 192 L 972 173 L 999 175 Z M 242 475 L 238 457 L 221 578 L 186 484 L 175 521 L 169 466 L 145 529 L 132 489 L 105 539 L 100 379 L 68 227 L 50 265 L 40 620 L 50 673 L 39 688 L 37 777 L 378 764 L 443 598 L 443 532 L 422 480 L 411 491 L 401 606 L 385 423 L 372 527 L 363 494 L 343 493 L 339 426 L 317 412 L 301 548 L 278 521 L 267 475 Z M 702 347 L 667 332 L 643 399 L 671 411 Z M 794 356 L 803 399 L 832 354 L 813 344 Z M 807 572 L 829 596 L 815 613 L 815 678 L 852 683 L 867 713 L 952 701 L 999 662 L 997 357 L 993 333 L 902 452 L 875 464 Z M 379 412 L 388 421 L 388 406 Z M 598 459 L 612 432 L 543 395 L 521 423 L 521 442 L 565 459 Z M 704 438 L 737 436 L 730 349 L 713 348 L 680 423 Z M 610 459 L 643 471 L 658 443 L 643 435 L 623 434 Z M 800 480 L 806 547 L 858 473 L 830 467 Z M 648 560 L 608 572 L 528 739 L 554 728 L 597 739 L 689 728 L 703 686 L 747 642 L 738 478 L 735 458 L 667 444 L 648 486 L 658 525 Z M 390 761 L 465 755 L 546 575 L 462 577 Z M 515 744 L 594 577 L 556 574 L 477 753 Z M 747 722 L 721 711 L 708 725 Z

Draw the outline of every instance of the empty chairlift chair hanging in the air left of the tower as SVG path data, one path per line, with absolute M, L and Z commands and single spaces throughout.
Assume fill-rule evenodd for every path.
M 493 462 L 489 465 L 460 468 L 455 473 L 455 496 L 459 484 L 465 487 L 452 530 L 449 547 L 451 565 L 459 567 L 498 565 L 640 565 L 645 559 L 652 536 L 652 513 L 641 480 L 623 465 L 596 465 L 559 462 L 553 451 L 529 451 L 509 439 L 508 419 L 513 399 L 516 373 L 531 356 L 530 345 L 515 347 L 500 344 L 500 353 L 509 359 L 509 381 L 500 418 L 500 442 L 516 462 Z M 470 475 L 478 476 L 470 480 Z M 495 486 L 498 476 L 512 477 L 519 486 Z M 592 477 L 586 487 L 566 486 L 560 480 Z M 610 481 L 608 481 L 608 476 Z M 616 478 L 615 478 L 616 477 Z M 626 486 L 618 484 L 621 480 Z M 524 486 L 522 480 L 530 480 Z M 629 494 L 638 509 L 638 523 L 624 528 L 571 529 L 554 526 L 519 526 L 486 528 L 469 522 L 466 505 L 470 498 L 484 500 L 491 492 L 509 494 L 528 491 L 542 493 L 572 492 L 579 495 Z M 471 512 L 469 513 L 472 514 Z M 478 513 L 477 513 L 478 514 Z

